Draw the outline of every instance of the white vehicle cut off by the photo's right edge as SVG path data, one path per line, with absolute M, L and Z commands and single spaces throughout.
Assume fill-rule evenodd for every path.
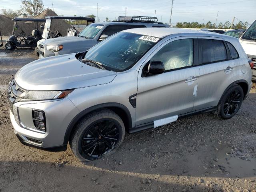
M 256 80 L 256 20 L 251 26 L 244 32 L 239 39 L 246 55 L 254 63 L 252 69 L 252 80 Z

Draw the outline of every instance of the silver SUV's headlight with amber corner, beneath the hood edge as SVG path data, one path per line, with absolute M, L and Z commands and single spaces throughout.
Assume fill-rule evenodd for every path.
M 62 91 L 26 91 L 25 95 L 20 99 L 20 101 L 63 99 L 73 90 L 74 89 Z

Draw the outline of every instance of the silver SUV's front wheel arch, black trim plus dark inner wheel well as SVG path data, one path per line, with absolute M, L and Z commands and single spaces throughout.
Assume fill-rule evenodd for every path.
M 125 130 L 128 130 L 132 127 L 132 117 L 130 111 L 126 106 L 120 103 L 98 104 L 83 110 L 72 119 L 72 121 L 68 125 L 68 128 L 66 129 L 66 133 L 64 136 L 64 145 L 68 144 L 70 136 L 72 135 L 72 132 L 74 131 L 74 128 L 76 127 L 78 122 L 80 122 L 86 115 L 101 109 L 110 109 L 118 114 L 118 116 L 120 116 L 120 118 L 124 122 Z

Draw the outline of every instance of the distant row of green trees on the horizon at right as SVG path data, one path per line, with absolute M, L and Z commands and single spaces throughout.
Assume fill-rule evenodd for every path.
M 237 24 L 231 24 L 229 21 L 226 21 L 224 24 L 219 23 L 216 25 L 212 22 L 207 22 L 206 24 L 198 22 L 177 22 L 175 27 L 178 28 L 219 28 L 219 29 L 247 29 L 248 22 L 239 21 Z

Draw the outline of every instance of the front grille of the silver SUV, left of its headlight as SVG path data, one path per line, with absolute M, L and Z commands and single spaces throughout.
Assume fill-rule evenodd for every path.
M 13 113 L 13 104 L 20 100 L 20 98 L 22 97 L 22 93 L 24 93 L 25 91 L 26 90 L 20 88 L 16 84 L 13 78 L 8 88 L 8 102 L 10 104 L 10 109 L 12 113 Z

